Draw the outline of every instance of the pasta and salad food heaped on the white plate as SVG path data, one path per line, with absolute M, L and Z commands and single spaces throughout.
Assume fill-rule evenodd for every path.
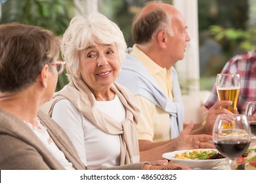
M 192 150 L 186 151 L 182 154 L 175 154 L 175 158 L 177 159 L 221 159 L 224 158 L 219 152 L 215 150 Z

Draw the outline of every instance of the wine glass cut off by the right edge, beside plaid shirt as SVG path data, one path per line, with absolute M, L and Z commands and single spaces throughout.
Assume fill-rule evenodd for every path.
M 256 101 L 249 101 L 245 109 L 245 116 L 251 127 L 252 135 L 256 136 Z M 252 137 L 256 139 L 256 137 Z

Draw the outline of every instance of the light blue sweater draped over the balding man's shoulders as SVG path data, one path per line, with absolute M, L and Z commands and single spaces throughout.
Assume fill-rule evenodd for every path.
M 136 58 L 127 54 L 116 82 L 129 88 L 134 95 L 145 97 L 170 114 L 171 139 L 177 137 L 183 129 L 184 105 L 181 88 L 175 68 L 171 72 L 173 79 L 173 101 L 169 100 L 148 73 L 146 67 Z

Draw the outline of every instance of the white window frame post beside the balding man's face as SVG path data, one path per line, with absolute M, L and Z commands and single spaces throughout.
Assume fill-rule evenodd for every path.
M 173 5 L 186 19 L 188 35 L 190 35 L 184 59 L 175 65 L 180 79 L 190 78 L 193 80 L 188 95 L 182 95 L 185 110 L 184 123 L 189 123 L 191 120 L 200 123 L 202 122 L 201 107 L 209 96 L 209 92 L 200 92 L 198 0 L 173 0 Z

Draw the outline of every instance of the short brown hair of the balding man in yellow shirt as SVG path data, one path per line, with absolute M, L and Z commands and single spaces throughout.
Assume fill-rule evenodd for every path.
M 131 27 L 133 41 L 136 44 L 150 42 L 154 33 L 171 27 L 171 18 L 161 8 L 156 8 L 144 16 L 136 16 Z

